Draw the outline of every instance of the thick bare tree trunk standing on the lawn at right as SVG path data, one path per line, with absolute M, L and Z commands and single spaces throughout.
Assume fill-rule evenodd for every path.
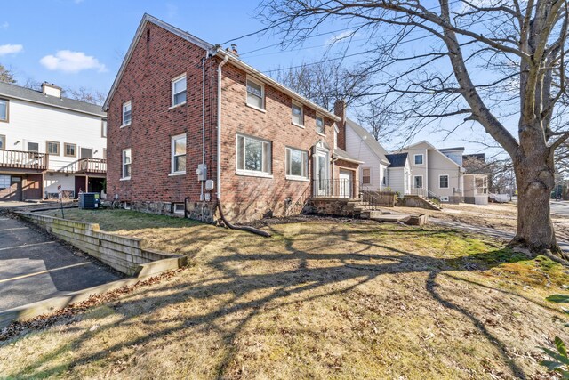
M 531 134 L 535 129 L 527 128 Z M 535 131 L 538 132 L 538 131 Z M 567 258 L 557 245 L 549 214 L 551 190 L 555 186 L 553 158 L 547 145 L 533 136 L 520 136 L 514 158 L 517 181 L 517 234 L 510 247 L 525 247 L 533 253 L 551 251 Z M 538 142 L 539 141 L 539 142 Z

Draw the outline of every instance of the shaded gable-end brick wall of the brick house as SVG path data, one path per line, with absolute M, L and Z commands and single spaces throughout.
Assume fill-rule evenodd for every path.
M 149 41 L 147 42 L 147 31 Z M 199 199 L 196 167 L 202 159 L 202 69 L 205 51 L 163 28 L 148 23 L 108 109 L 108 196 L 131 201 L 181 202 Z M 206 82 L 210 82 L 211 64 Z M 187 103 L 172 105 L 172 78 L 187 74 Z M 209 83 L 206 88 L 209 89 Z M 206 91 L 206 112 L 211 104 Z M 132 124 L 120 128 L 122 105 L 132 101 Z M 209 115 L 206 121 L 210 122 Z M 207 126 L 209 131 L 209 125 Z M 214 132 L 214 131 L 213 131 Z M 171 172 L 171 137 L 187 133 L 186 175 Z M 210 146 L 206 133 L 206 146 Z M 122 151 L 132 149 L 132 178 L 120 181 Z M 211 155 L 211 151 L 209 152 Z M 214 167 L 212 168 L 215 169 Z

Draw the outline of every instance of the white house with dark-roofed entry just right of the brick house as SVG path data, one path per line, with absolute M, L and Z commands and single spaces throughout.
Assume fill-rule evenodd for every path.
M 346 120 L 346 149 L 363 161 L 359 181 L 372 190 L 393 190 L 400 195 L 411 190 L 411 166 L 407 154 L 389 155 L 372 133 L 353 120 Z

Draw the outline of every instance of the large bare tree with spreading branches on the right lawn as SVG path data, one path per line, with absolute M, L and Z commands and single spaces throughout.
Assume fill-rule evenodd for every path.
M 406 127 L 457 116 L 482 125 L 516 172 L 517 235 L 510 246 L 565 257 L 549 194 L 554 152 L 569 137 L 559 112 L 568 99 L 566 0 L 264 0 L 259 14 L 283 34 L 284 45 L 332 22 L 368 36 L 358 56 L 373 76 L 368 95 L 397 104 Z M 512 118 L 517 138 L 509 131 Z

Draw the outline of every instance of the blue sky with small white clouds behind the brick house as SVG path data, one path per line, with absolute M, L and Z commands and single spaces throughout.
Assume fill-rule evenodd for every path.
M 4 2 L 0 13 L 0 63 L 16 74 L 20 84 L 48 81 L 63 87 L 86 87 L 108 93 L 124 53 L 145 12 L 187 30 L 212 44 L 263 28 L 255 19 L 257 1 L 149 1 L 149 0 L 35 0 Z M 349 27 L 334 24 L 302 46 L 283 52 L 273 35 L 250 36 L 236 41 L 243 58 L 266 71 L 316 61 L 327 43 Z M 340 31 L 337 31 L 340 30 Z M 354 48 L 357 49 L 357 46 Z M 450 122 L 452 123 L 452 122 Z M 446 125 L 452 128 L 452 124 Z M 454 133 L 433 130 L 419 133 L 414 141 L 429 140 L 439 147 L 480 147 L 469 141 L 481 135 L 480 128 Z M 397 140 L 386 148 L 397 148 Z

